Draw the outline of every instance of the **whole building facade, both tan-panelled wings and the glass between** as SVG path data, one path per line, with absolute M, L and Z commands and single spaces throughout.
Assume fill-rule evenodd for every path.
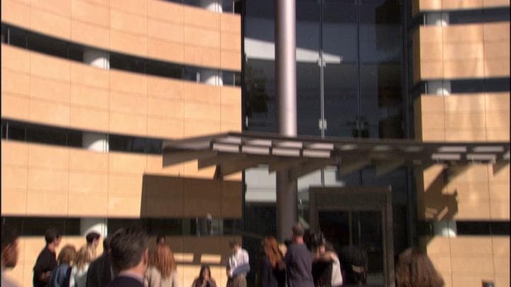
M 212 180 L 197 161 L 163 168 L 161 143 L 275 133 L 275 9 L 246 1 L 1 1 L 1 217 L 22 230 L 11 276 L 31 285 L 48 225 L 80 246 L 142 225 L 167 235 L 183 285 L 211 264 L 217 283 L 243 237 L 255 284 L 260 240 L 275 235 L 275 172 Z M 297 131 L 316 137 L 510 140 L 510 4 L 500 0 L 297 0 Z M 232 13 L 236 12 L 236 13 Z M 449 171 L 447 171 L 449 170 Z M 509 164 L 444 169 L 366 164 L 311 172 L 322 187 L 388 187 L 381 213 L 319 211 L 337 248 L 368 250 L 384 285 L 393 256 L 419 246 L 446 286 L 510 286 Z

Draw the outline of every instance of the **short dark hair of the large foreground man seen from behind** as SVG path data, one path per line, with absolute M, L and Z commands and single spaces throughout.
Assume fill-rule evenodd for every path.
M 145 250 L 148 249 L 148 236 L 138 227 L 121 228 L 110 240 L 111 264 L 120 272 L 137 266 Z

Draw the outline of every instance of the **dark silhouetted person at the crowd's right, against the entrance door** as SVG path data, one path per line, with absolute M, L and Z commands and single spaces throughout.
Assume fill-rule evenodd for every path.
M 344 266 L 344 283 L 367 284 L 368 257 L 366 249 L 354 245 L 343 247 L 341 249 L 341 266 Z

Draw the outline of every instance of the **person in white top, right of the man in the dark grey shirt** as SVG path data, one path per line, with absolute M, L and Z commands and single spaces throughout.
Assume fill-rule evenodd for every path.
M 323 237 L 314 247 L 312 277 L 314 286 L 341 286 L 343 283 L 339 257 Z

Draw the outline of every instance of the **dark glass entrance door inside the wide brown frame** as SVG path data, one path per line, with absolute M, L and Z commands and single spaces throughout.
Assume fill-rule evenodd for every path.
M 319 211 L 319 227 L 339 254 L 344 286 L 356 285 L 352 261 L 362 261 L 368 286 L 385 286 L 382 214 L 378 210 Z M 353 250 L 361 258 L 353 259 Z M 361 263 L 362 264 L 362 263 Z

